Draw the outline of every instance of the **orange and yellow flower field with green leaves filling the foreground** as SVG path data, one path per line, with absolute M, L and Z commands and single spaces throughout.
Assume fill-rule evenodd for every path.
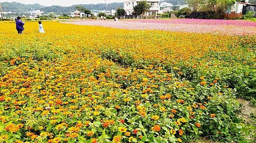
M 0 22 L 0 143 L 253 143 L 255 35 L 43 25 Z

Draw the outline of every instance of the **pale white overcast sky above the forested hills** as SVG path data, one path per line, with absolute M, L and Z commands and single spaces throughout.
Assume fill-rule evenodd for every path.
M 106 3 L 105 0 L 0 0 L 0 2 L 19 2 L 24 4 L 34 4 L 39 3 L 43 6 L 72 6 L 75 4 L 96 4 L 96 3 Z M 107 0 L 108 3 L 123 2 L 123 0 Z

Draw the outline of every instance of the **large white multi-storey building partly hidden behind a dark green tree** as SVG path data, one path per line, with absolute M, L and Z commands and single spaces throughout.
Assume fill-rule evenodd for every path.
M 142 0 L 124 0 L 125 15 L 132 15 L 133 7 L 137 6 L 137 3 Z M 147 11 L 147 16 L 157 15 L 160 11 L 160 0 L 147 0 L 151 8 Z

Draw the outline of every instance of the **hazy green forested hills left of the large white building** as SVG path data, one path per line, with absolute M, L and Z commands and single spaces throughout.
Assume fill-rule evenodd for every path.
M 87 9 L 90 10 L 105 10 L 106 4 L 105 3 L 98 3 L 98 4 L 79 4 L 79 5 L 73 5 L 73 6 L 42 6 L 38 3 L 36 4 L 23 4 L 23 3 L 17 3 L 17 2 L 3 2 L 2 8 L 3 11 L 8 12 L 29 12 L 31 9 L 37 9 L 44 11 L 45 13 L 48 12 L 55 12 L 56 14 L 63 14 L 63 13 L 69 13 L 70 11 L 75 11 L 76 6 L 84 6 Z M 123 3 L 108 3 L 108 9 L 116 9 L 118 7 L 123 7 Z

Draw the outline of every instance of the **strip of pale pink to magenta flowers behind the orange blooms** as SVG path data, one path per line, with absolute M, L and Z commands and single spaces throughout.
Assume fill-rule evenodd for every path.
M 154 20 L 78 20 L 77 25 L 95 25 L 137 30 L 164 30 L 186 33 L 248 35 L 256 34 L 256 22 L 245 20 L 154 19 Z

